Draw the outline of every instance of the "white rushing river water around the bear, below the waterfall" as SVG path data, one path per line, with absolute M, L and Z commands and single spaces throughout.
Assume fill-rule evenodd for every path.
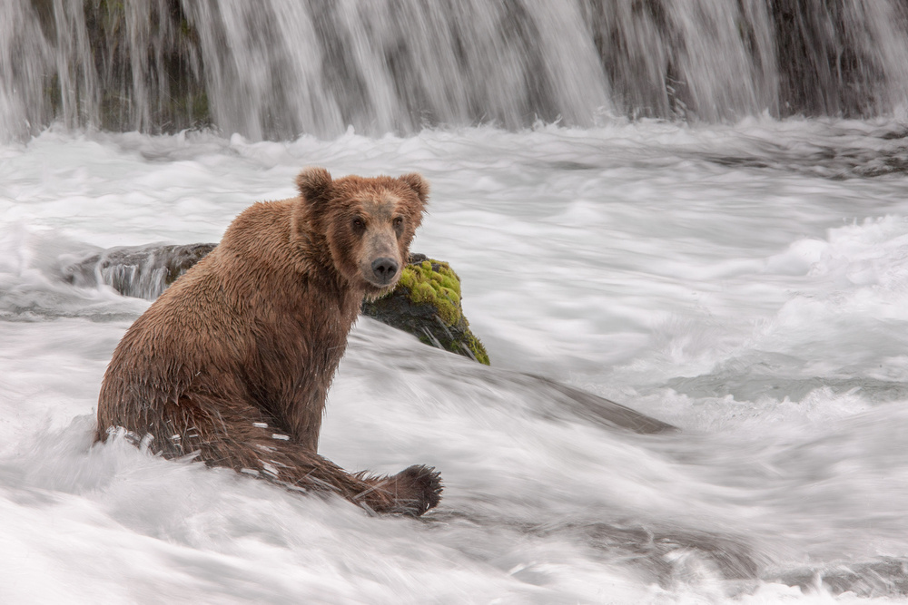
M 908 130 L 615 121 L 0 147 L 0 601 L 891 602 L 908 590 Z M 125 443 L 104 368 L 148 306 L 64 268 L 217 241 L 254 200 L 421 172 L 479 366 L 370 319 L 321 453 L 439 468 L 419 520 Z M 544 376 L 675 424 L 618 430 Z

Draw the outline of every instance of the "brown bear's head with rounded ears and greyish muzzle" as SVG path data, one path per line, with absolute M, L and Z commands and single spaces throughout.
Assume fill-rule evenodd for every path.
M 305 217 L 297 229 L 327 248 L 338 273 L 370 297 L 394 288 L 422 221 L 429 184 L 415 173 L 335 181 L 323 168 L 301 171 L 296 184 Z

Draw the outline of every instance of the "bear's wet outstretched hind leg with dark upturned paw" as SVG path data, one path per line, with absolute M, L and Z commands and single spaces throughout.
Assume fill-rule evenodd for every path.
M 166 457 L 194 454 L 291 489 L 337 493 L 372 512 L 419 516 L 439 503 L 437 471 L 410 466 L 391 476 L 350 474 L 274 426 L 252 405 L 223 405 L 183 395 L 153 423 L 150 448 Z M 159 408 L 160 409 L 160 408 Z

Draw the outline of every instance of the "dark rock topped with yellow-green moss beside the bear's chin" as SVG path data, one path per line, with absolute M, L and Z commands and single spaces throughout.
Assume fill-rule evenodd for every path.
M 410 332 L 427 345 L 489 366 L 489 354 L 473 336 L 460 307 L 460 278 L 446 262 L 411 254 L 397 288 L 364 302 L 362 314 Z

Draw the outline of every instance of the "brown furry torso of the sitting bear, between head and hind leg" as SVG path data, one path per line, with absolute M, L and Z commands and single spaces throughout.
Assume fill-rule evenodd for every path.
M 208 394 L 252 403 L 294 434 L 320 424 L 359 300 L 295 253 L 292 202 L 245 210 L 126 331 L 104 375 L 99 431 L 141 434 L 156 410 Z

